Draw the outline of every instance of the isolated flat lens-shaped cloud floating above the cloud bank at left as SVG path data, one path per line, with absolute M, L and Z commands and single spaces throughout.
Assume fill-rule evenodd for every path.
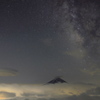
M 16 76 L 18 71 L 11 68 L 1 68 L 0 69 L 0 76 Z

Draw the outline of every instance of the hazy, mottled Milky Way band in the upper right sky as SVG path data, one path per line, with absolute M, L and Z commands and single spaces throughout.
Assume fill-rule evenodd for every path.
M 100 1 L 57 0 L 56 4 L 56 27 L 63 52 L 83 59 L 85 68 L 100 68 Z

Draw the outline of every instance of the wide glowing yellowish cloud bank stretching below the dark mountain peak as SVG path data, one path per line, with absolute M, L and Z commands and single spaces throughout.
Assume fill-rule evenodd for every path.
M 82 96 L 88 96 L 89 98 L 91 98 L 91 94 L 97 96 L 100 88 L 96 89 L 96 87 L 92 83 L 82 82 L 73 84 L 59 83 L 55 85 L 0 84 L 1 93 L 5 94 L 5 97 L 8 98 L 15 97 L 14 99 L 16 100 L 66 100 L 66 98 L 68 98 L 67 100 L 71 100 L 72 98 L 80 100 L 79 98 L 82 98 Z M 91 93 L 92 89 L 96 92 Z

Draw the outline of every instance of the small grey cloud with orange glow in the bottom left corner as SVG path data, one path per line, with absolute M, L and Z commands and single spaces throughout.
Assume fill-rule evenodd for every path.
M 9 99 L 9 98 L 14 98 L 14 97 L 16 97 L 15 93 L 10 93 L 10 92 L 5 92 L 5 91 L 0 92 L 0 99 Z

